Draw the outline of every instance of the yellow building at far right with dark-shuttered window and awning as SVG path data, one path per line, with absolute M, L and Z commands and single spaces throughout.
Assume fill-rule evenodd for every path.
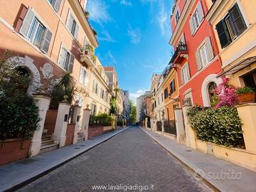
M 223 73 L 236 87 L 256 87 L 256 1 L 207 0 Z

